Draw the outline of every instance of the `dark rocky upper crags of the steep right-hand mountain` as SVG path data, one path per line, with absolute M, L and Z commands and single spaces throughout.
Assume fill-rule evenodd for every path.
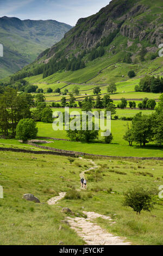
M 157 13 L 155 13 L 157 12 Z M 95 47 L 106 36 L 122 35 L 130 40 L 147 40 L 151 45 L 163 43 L 163 3 L 161 1 L 112 0 L 97 14 L 79 19 L 77 25 L 67 32 L 58 44 L 46 54 L 51 58 L 64 49 L 67 56 L 71 51 L 76 56 L 82 50 Z M 40 59 L 42 54 L 37 58 Z

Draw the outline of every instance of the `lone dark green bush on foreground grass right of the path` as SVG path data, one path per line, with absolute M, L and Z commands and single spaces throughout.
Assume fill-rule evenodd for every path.
M 155 204 L 154 194 L 144 187 L 130 188 L 124 193 L 124 205 L 131 207 L 137 214 L 142 210 L 150 212 Z

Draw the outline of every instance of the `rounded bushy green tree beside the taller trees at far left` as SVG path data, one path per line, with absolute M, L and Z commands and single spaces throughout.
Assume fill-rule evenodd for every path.
M 38 129 L 33 119 L 21 119 L 16 127 L 16 139 L 27 141 L 27 139 L 35 139 Z

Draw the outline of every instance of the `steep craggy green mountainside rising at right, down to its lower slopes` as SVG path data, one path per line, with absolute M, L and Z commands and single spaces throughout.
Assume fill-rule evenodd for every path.
M 79 19 L 60 42 L 39 54 L 12 82 L 38 74 L 43 74 L 41 81 L 49 77 L 74 83 L 107 82 L 102 70 L 115 63 L 116 70 L 108 71 L 114 82 L 125 80 L 128 69 L 134 69 L 137 76 L 161 72 L 162 11 L 161 0 L 112 0 L 97 14 Z

